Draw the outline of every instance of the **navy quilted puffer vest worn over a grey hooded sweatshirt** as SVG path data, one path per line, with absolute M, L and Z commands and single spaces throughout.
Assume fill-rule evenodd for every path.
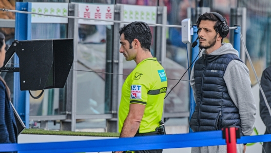
M 220 130 L 227 126 L 241 126 L 238 108 L 228 94 L 223 79 L 231 60 L 241 61 L 235 54 L 203 54 L 194 66 L 196 107 L 190 127 L 193 131 Z M 242 62 L 242 61 L 241 61 Z

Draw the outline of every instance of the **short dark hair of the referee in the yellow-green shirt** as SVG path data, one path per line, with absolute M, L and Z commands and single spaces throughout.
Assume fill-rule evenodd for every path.
M 120 28 L 119 33 L 120 37 L 121 34 L 124 33 L 124 39 L 129 42 L 130 49 L 132 48 L 132 41 L 138 39 L 141 48 L 150 51 L 151 32 L 149 26 L 145 22 L 132 22 Z

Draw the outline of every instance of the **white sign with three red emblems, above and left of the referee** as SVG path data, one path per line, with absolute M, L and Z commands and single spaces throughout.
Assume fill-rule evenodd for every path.
M 79 17 L 84 17 L 86 20 L 79 19 L 79 24 L 86 25 L 113 25 L 113 22 L 87 20 L 87 19 L 101 19 L 101 20 L 114 20 L 114 5 L 94 5 L 79 3 Z

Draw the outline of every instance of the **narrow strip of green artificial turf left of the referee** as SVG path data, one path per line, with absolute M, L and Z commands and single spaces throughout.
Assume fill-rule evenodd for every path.
M 72 131 L 52 131 L 52 130 L 44 130 L 44 129 L 24 129 L 24 131 L 21 134 L 90 136 L 90 137 L 120 137 L 120 133 L 113 133 L 113 132 L 72 132 Z

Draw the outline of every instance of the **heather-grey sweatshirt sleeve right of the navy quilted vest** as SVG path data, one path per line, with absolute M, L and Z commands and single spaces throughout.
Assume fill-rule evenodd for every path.
M 239 109 L 241 131 L 245 136 L 249 136 L 253 132 L 256 119 L 256 104 L 248 68 L 244 63 L 233 60 L 228 64 L 223 78 L 231 100 Z

